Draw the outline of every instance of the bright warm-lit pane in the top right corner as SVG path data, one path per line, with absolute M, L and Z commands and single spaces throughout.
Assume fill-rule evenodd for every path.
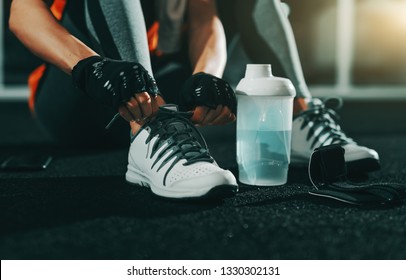
M 370 0 L 357 5 L 355 70 L 386 75 L 391 82 L 406 77 L 406 1 Z M 368 73 L 369 72 L 369 73 Z

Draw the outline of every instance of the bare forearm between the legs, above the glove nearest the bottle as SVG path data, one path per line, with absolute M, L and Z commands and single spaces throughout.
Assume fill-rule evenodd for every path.
M 223 25 L 212 5 L 203 3 L 203 7 L 197 9 L 208 9 L 211 12 L 206 13 L 205 18 L 192 16 L 191 19 L 189 56 L 193 72 L 206 72 L 221 77 L 227 60 Z

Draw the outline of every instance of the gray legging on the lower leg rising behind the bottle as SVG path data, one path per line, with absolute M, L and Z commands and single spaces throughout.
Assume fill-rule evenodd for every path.
M 231 1 L 229 1 L 231 2 Z M 276 76 L 289 78 L 297 97 L 311 98 L 294 34 L 280 0 L 233 0 L 233 24 L 253 63 L 271 63 Z

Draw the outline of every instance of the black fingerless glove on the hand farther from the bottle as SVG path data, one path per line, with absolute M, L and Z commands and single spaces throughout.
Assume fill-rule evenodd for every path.
M 159 94 L 154 78 L 136 62 L 91 56 L 73 68 L 72 79 L 90 97 L 115 109 L 136 93 Z

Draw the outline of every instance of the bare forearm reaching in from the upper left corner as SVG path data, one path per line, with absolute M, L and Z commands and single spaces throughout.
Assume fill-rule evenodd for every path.
M 97 55 L 63 28 L 42 0 L 14 0 L 9 26 L 29 50 L 68 74 L 79 60 Z

